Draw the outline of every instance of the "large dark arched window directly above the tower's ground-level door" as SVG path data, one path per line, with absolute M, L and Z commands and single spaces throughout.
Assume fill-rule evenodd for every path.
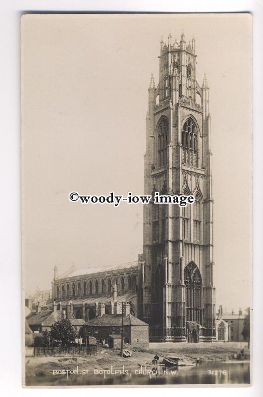
M 186 286 L 186 321 L 198 321 L 202 324 L 202 277 L 194 262 L 184 269 Z

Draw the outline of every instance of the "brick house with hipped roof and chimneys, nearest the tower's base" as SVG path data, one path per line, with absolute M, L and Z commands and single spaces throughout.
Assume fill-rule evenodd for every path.
M 149 346 L 149 326 L 130 313 L 129 302 L 123 303 L 123 343 L 129 347 Z M 105 304 L 99 304 L 99 314 L 83 326 L 83 337 L 94 336 L 97 342 L 119 348 L 122 333 L 122 314 L 118 302 L 113 314 L 105 314 Z M 128 347 L 128 346 L 126 346 Z

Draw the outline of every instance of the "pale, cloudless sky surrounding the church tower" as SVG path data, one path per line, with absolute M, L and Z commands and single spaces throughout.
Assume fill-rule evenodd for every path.
M 160 39 L 196 39 L 212 120 L 216 309 L 250 305 L 251 16 L 40 15 L 22 20 L 25 287 L 53 267 L 118 265 L 142 252 L 142 205 L 68 194 L 143 194 L 145 118 Z

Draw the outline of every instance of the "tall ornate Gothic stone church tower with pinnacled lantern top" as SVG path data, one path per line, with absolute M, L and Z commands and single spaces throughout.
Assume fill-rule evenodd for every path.
M 151 341 L 215 340 L 209 87 L 196 81 L 195 39 L 161 40 L 159 84 L 149 87 L 145 194 L 195 203 L 144 205 L 141 318 Z

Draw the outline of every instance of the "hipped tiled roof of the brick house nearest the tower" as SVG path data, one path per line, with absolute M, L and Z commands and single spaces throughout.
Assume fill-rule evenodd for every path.
M 89 320 L 86 323 L 87 326 L 109 326 L 109 327 L 119 327 L 122 325 L 122 315 L 121 314 L 103 314 L 102 316 L 97 316 L 94 319 Z M 123 317 L 124 326 L 147 326 L 147 323 L 132 316 L 132 314 L 127 314 Z

